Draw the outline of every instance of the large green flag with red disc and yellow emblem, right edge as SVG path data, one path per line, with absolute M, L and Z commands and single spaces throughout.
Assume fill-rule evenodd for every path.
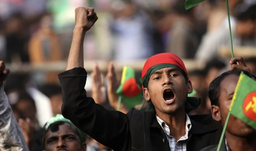
M 230 113 L 256 129 L 256 81 L 243 72 L 236 86 Z

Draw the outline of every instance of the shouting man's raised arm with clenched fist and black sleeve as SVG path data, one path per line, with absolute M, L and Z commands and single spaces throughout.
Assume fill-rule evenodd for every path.
M 76 27 L 66 71 L 59 74 L 62 87 L 62 114 L 78 128 L 101 144 L 116 151 L 130 150 L 129 118 L 124 113 L 110 111 L 87 97 L 84 86 L 87 72 L 83 68 L 84 35 L 96 22 L 92 8 L 76 9 Z

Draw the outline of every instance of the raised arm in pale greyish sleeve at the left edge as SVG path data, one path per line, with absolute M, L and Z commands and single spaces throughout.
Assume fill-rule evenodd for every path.
M 1 151 L 29 151 L 3 89 L 3 81 L 9 72 L 3 61 L 0 61 L 0 149 Z

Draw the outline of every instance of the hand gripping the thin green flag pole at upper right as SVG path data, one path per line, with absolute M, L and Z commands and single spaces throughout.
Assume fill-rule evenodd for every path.
M 230 65 L 230 70 L 240 69 L 250 72 L 250 69 L 246 66 L 244 59 L 241 56 L 231 58 Z

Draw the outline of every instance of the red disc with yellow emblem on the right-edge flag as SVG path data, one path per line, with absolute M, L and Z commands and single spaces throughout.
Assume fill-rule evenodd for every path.
M 249 93 L 245 97 L 243 111 L 250 120 L 256 121 L 256 91 Z

